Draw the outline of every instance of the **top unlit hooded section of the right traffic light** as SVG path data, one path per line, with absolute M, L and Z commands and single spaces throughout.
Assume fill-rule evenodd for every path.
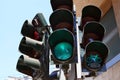
M 84 25 L 89 21 L 100 21 L 101 18 L 101 10 L 93 5 L 85 6 L 82 9 L 82 17 L 81 17 L 81 24 L 79 29 L 83 31 Z

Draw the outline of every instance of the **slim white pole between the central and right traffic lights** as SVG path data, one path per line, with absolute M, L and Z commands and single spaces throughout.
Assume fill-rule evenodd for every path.
M 81 51 L 80 49 L 81 38 L 80 38 L 80 31 L 79 31 L 79 25 L 78 25 L 78 18 L 76 17 L 76 6 L 75 5 L 73 5 L 73 10 L 74 10 L 74 27 L 76 31 L 77 60 L 78 60 L 78 62 L 75 64 L 75 80 L 79 80 L 81 78 L 81 72 L 82 72 L 81 52 L 80 52 Z

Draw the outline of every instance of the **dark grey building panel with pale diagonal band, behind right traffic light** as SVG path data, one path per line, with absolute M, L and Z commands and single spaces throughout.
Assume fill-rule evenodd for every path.
M 107 12 L 100 22 L 106 29 L 103 42 L 109 47 L 109 55 L 107 58 L 107 61 L 109 61 L 120 53 L 120 38 L 113 8 Z

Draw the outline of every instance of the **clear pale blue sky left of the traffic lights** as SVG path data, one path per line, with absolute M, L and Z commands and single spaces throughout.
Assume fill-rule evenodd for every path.
M 24 21 L 31 21 L 37 13 L 43 13 L 49 24 L 50 0 L 0 1 L 0 80 L 23 76 L 16 70 L 18 58 L 22 55 L 18 50 L 23 37 L 20 32 Z

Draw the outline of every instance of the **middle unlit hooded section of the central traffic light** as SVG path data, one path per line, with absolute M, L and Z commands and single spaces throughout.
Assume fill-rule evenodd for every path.
M 56 29 L 66 28 L 73 32 L 73 13 L 69 10 L 55 10 L 51 14 L 49 21 L 53 31 Z

